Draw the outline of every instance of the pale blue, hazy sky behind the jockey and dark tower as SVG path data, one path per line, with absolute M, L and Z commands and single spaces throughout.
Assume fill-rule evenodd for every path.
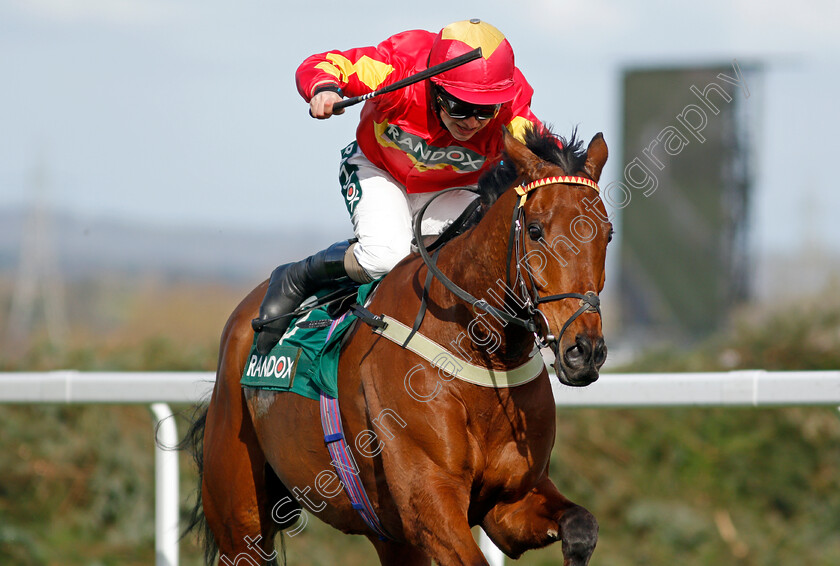
M 0 0 L 0 208 L 46 175 L 60 210 L 219 230 L 350 223 L 338 152 L 358 108 L 316 121 L 297 65 L 406 29 L 482 18 L 511 41 L 535 113 L 620 153 L 628 67 L 757 64 L 751 244 L 840 250 L 840 3 L 520 0 L 415 6 L 240 0 Z M 690 93 L 677 93 L 685 96 Z M 620 178 L 613 158 L 603 179 Z

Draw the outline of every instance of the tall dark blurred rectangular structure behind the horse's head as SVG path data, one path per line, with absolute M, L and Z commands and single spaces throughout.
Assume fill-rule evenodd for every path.
M 624 174 L 605 198 L 621 214 L 620 329 L 637 343 L 706 337 L 750 298 L 757 73 L 742 65 L 625 72 Z

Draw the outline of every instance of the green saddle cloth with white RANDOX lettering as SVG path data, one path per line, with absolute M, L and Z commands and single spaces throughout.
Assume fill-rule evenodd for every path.
M 376 283 L 378 281 L 359 287 L 355 302 L 365 304 Z M 334 290 L 324 290 L 316 297 L 326 296 Z M 326 306 L 312 309 L 294 319 L 280 342 L 265 356 L 257 352 L 255 333 L 240 384 L 271 391 L 291 391 L 309 399 L 318 399 L 321 391 L 338 397 L 341 338 L 355 321 L 352 313 L 333 319 Z

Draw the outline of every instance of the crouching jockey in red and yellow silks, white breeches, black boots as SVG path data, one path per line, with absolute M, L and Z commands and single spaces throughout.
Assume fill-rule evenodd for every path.
M 541 127 L 533 89 L 495 27 L 478 19 L 438 33 L 414 30 L 375 47 L 328 51 L 298 67 L 298 91 L 314 118 L 326 119 L 343 96 L 360 96 L 481 47 L 482 57 L 431 79 L 368 100 L 356 141 L 342 151 L 339 180 L 355 240 L 333 244 L 271 274 L 259 318 L 257 348 L 267 353 L 303 300 L 331 281 L 366 283 L 411 251 L 415 214 L 436 191 L 475 189 L 502 150 L 503 128 L 517 138 Z M 476 194 L 452 191 L 424 215 L 424 235 L 441 233 Z M 279 318 L 278 318 L 279 317 Z

